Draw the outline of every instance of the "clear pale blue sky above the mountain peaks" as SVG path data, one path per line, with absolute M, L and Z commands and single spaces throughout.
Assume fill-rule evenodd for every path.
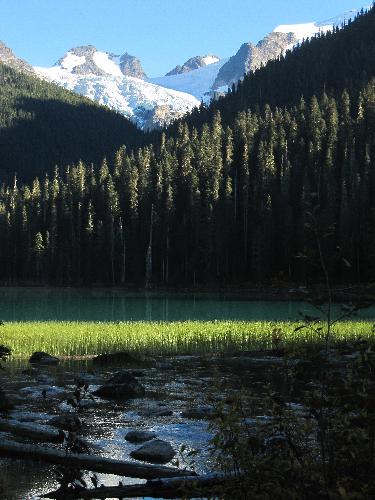
M 160 76 L 194 55 L 233 55 L 278 24 L 323 21 L 366 0 L 0 0 L 0 40 L 37 66 L 92 44 Z

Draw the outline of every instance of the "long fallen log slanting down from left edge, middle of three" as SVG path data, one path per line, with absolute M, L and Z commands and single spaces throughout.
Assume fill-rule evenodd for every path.
M 104 472 L 140 479 L 155 479 L 158 477 L 184 477 L 194 475 L 189 470 L 181 470 L 174 467 L 157 466 L 150 464 L 137 464 L 113 458 L 104 458 L 95 455 L 65 453 L 60 450 L 43 448 L 40 446 L 13 443 L 2 440 L 0 442 L 0 456 L 8 458 L 21 458 L 47 462 L 55 465 L 66 465 L 77 469 L 94 472 Z

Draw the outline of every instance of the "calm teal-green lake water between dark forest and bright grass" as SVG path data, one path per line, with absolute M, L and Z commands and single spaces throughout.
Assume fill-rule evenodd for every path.
M 314 307 L 302 301 L 248 300 L 220 294 L 0 288 L 3 321 L 276 321 L 296 320 L 300 312 L 317 314 Z M 362 311 L 361 318 L 375 320 L 375 307 Z

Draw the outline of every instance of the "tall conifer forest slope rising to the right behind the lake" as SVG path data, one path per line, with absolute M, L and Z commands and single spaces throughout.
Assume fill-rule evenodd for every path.
M 346 73 L 337 69 L 342 84 L 324 92 L 321 75 L 335 66 L 319 59 L 319 44 L 326 54 L 341 44 L 354 62 L 352 46 L 342 42 L 342 34 L 353 31 L 352 40 L 363 46 L 362 70 L 351 63 Z M 134 154 L 120 148 L 98 171 L 79 162 L 30 186 L 4 186 L 0 280 L 319 282 L 320 254 L 329 256 L 325 263 L 336 282 L 374 280 L 374 46 L 373 9 L 246 78 L 236 93 L 204 111 L 212 115 L 207 123 L 201 123 L 203 112 L 191 116 L 155 136 L 154 145 Z M 300 61 L 301 78 L 304 64 L 306 81 L 315 68 L 316 95 L 311 87 L 303 97 L 296 87 L 291 105 L 284 107 L 288 98 L 280 97 L 282 106 L 274 106 L 275 97 L 272 106 L 252 107 L 257 75 L 271 85 L 288 57 Z M 275 94 L 282 92 L 275 82 Z M 240 106 L 241 96 L 248 100 Z M 231 102 L 240 109 L 234 118 Z

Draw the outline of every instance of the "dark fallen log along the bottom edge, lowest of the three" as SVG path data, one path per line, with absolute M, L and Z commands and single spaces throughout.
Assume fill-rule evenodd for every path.
M 147 481 L 145 484 L 128 486 L 101 486 L 92 489 L 77 489 L 67 492 L 56 490 L 42 495 L 42 498 L 76 500 L 76 499 L 104 499 L 104 498 L 196 498 L 197 495 L 207 493 L 228 480 L 235 480 L 235 476 L 220 473 L 211 473 L 204 476 L 187 476 L 184 478 L 161 478 Z

